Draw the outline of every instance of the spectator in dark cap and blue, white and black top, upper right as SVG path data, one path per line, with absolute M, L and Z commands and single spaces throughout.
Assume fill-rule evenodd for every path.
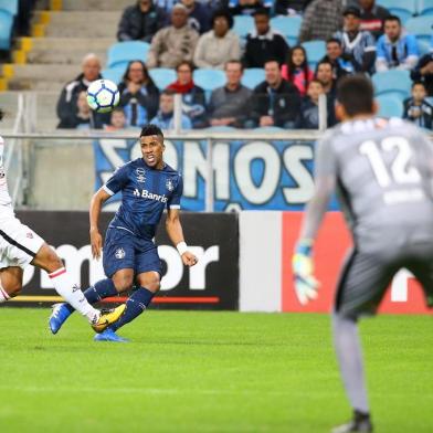
M 349 61 L 356 72 L 372 73 L 376 60 L 376 42 L 369 32 L 360 30 L 361 12 L 348 7 L 342 12 L 344 29 L 334 36 L 341 42 L 342 59 Z

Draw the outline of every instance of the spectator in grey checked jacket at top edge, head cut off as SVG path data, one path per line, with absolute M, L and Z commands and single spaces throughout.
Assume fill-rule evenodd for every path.
M 342 28 L 341 0 L 313 0 L 305 10 L 299 30 L 299 43 L 328 40 Z

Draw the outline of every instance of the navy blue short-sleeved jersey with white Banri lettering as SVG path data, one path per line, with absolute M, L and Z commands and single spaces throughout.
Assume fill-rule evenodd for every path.
M 120 208 L 109 226 L 151 240 L 165 208 L 180 209 L 183 183 L 167 163 L 157 170 L 138 158 L 118 168 L 103 189 L 110 196 L 122 191 Z

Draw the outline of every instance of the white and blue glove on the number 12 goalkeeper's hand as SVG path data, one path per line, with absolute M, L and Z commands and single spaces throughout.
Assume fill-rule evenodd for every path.
M 319 282 L 313 275 L 311 245 L 311 240 L 299 241 L 292 258 L 295 292 L 302 305 L 317 298 L 317 288 L 319 287 Z

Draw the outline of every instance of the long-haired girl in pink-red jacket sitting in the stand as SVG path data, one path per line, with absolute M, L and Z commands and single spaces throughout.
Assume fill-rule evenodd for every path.
M 309 70 L 304 46 L 296 45 L 289 51 L 287 63 L 282 67 L 282 76 L 297 87 L 300 96 L 305 96 L 314 73 Z

